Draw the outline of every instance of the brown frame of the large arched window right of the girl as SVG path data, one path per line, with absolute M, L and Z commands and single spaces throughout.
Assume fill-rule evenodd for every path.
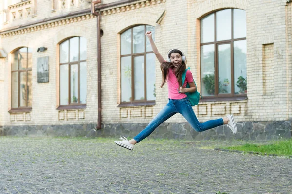
M 216 17 L 216 13 L 218 11 L 222 11 L 222 10 L 227 10 L 227 9 L 221 9 L 221 10 L 217 10 L 215 12 L 209 13 L 208 15 L 205 15 L 203 18 L 214 14 L 214 41 L 213 42 L 206 42 L 206 43 L 201 43 L 201 34 L 200 34 L 200 55 L 201 55 L 201 46 L 204 45 L 212 45 L 214 44 L 214 79 L 215 79 L 215 91 L 214 91 L 214 95 L 213 96 L 203 96 L 203 99 L 201 99 L 200 101 L 202 102 L 208 102 L 208 101 L 231 101 L 231 100 L 246 100 L 247 99 L 247 94 L 235 94 L 234 93 L 234 88 L 235 88 L 235 81 L 234 81 L 234 42 L 235 41 L 240 41 L 240 40 L 246 40 L 246 36 L 244 38 L 234 38 L 234 14 L 233 14 L 233 10 L 237 9 L 237 8 L 228 8 L 231 9 L 231 39 L 228 40 L 220 40 L 217 41 L 217 37 L 216 37 L 216 33 L 217 33 L 217 17 Z M 244 10 L 245 11 L 245 10 Z M 201 18 L 201 19 L 203 19 Z M 200 19 L 200 21 L 201 21 Z M 201 29 L 201 23 L 200 23 L 200 29 Z M 201 31 L 201 30 L 200 30 Z M 229 94 L 218 94 L 218 90 L 219 90 L 219 85 L 218 85 L 218 77 L 219 77 L 219 64 L 218 64 L 218 46 L 221 44 L 230 44 L 230 73 L 231 73 L 231 93 Z M 200 69 L 201 69 L 201 59 L 200 59 Z M 200 71 L 200 77 L 201 77 L 201 71 Z M 201 79 L 200 79 L 201 82 Z M 201 86 L 203 87 L 202 83 Z M 201 93 L 202 93 L 202 87 L 201 87 Z

